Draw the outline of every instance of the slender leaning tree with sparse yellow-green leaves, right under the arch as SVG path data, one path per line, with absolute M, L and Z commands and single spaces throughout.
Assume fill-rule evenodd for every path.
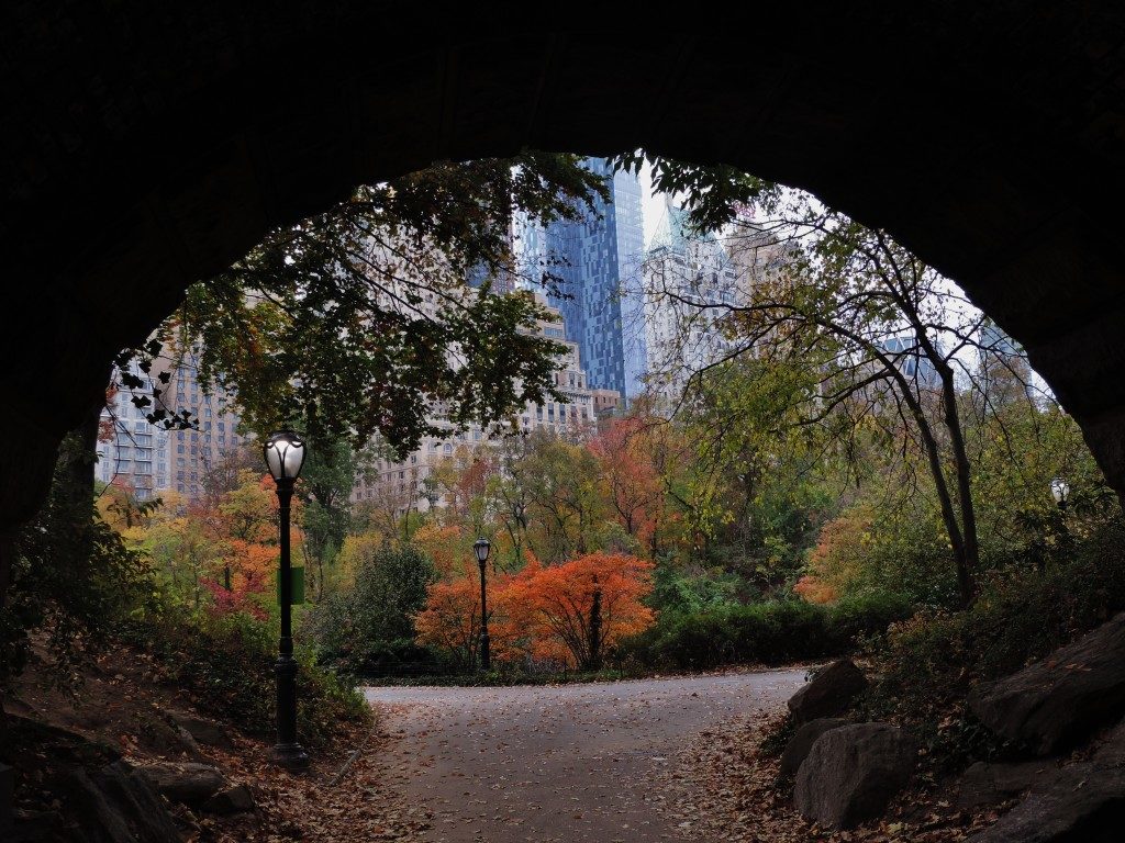
M 844 452 L 874 432 L 889 450 L 909 453 L 908 472 L 926 478 L 961 602 L 970 604 L 980 541 L 957 378 L 971 377 L 962 363 L 968 350 L 988 351 L 978 344 L 983 316 L 884 232 L 807 194 L 763 185 L 758 210 L 736 227 L 755 244 L 783 241 L 783 270 L 754 279 L 729 303 L 716 305 L 681 279 L 660 279 L 650 292 L 696 311 L 726 311 L 734 346 L 726 360 L 796 361 L 814 372 L 793 393 L 799 425 L 821 426 Z

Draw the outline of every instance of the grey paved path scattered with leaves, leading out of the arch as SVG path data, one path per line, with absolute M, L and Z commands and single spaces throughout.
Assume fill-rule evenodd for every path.
M 384 781 L 433 812 L 426 840 L 683 840 L 662 768 L 701 731 L 774 706 L 804 671 L 519 688 L 368 688 L 398 740 Z

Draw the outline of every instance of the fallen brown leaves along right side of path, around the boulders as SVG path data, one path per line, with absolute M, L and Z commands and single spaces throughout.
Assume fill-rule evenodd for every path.
M 939 789 L 901 795 L 879 823 L 821 830 L 793 808 L 792 788 L 777 785 L 777 759 L 758 751 L 782 715 L 757 714 L 701 733 L 662 778 L 666 812 L 694 840 L 731 843 L 947 843 L 991 825 L 996 812 L 956 810 Z

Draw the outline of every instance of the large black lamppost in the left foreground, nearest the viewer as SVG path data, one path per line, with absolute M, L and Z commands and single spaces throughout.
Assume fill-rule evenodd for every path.
M 281 604 L 281 638 L 274 668 L 278 683 L 278 742 L 273 758 L 289 770 L 308 768 L 308 754 L 297 743 L 297 662 L 292 658 L 292 569 L 289 563 L 289 502 L 292 484 L 305 463 L 305 443 L 299 434 L 282 430 L 270 436 L 262 448 L 266 464 L 278 487 L 280 510 L 281 570 L 279 596 Z

